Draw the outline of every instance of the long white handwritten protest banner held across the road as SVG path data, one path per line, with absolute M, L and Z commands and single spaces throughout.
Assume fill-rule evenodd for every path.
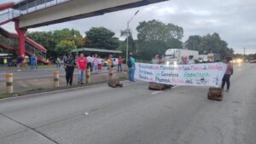
M 193 65 L 154 65 L 136 63 L 135 78 L 146 82 L 172 85 L 219 87 L 226 64 L 205 63 Z

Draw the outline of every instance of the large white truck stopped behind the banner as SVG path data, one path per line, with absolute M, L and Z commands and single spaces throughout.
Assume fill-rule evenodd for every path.
M 189 60 L 189 55 L 193 55 L 193 60 L 198 60 L 198 51 L 189 49 L 167 49 L 166 64 L 181 64 L 182 58 Z

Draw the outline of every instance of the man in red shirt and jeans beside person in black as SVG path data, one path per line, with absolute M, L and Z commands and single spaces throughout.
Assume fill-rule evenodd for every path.
M 80 57 L 77 60 L 78 70 L 79 70 L 79 84 L 84 84 L 84 72 L 87 66 L 87 59 L 84 57 L 84 54 L 80 54 Z

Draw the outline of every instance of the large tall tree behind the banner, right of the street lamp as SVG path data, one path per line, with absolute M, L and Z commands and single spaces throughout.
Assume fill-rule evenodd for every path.
M 166 49 L 182 49 L 183 28 L 158 20 L 143 21 L 137 26 L 137 56 L 150 60 L 164 55 Z

